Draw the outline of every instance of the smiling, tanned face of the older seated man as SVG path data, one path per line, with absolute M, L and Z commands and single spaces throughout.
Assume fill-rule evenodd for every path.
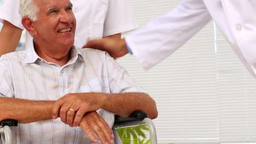
M 38 20 L 32 21 L 37 47 L 65 54 L 74 44 L 76 21 L 69 0 L 35 0 Z

